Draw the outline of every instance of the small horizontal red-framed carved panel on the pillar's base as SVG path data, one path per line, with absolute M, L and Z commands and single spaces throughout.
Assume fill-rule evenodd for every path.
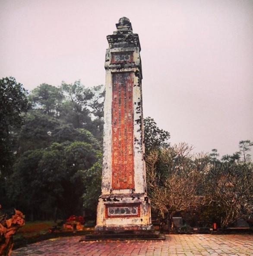
M 106 204 L 106 218 L 140 217 L 140 204 Z

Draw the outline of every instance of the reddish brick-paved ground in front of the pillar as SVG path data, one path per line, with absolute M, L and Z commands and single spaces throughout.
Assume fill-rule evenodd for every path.
M 79 242 L 61 237 L 28 245 L 12 256 L 253 256 L 252 235 L 166 235 L 165 241 Z

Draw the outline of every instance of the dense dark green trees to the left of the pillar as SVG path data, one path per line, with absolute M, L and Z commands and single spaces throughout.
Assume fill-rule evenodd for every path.
M 20 128 L 11 133 L 15 161 L 0 181 L 1 203 L 19 207 L 31 220 L 82 215 L 82 196 L 90 198 L 90 191 L 95 197 L 89 186 L 99 176 L 90 170 L 101 160 L 103 87 L 87 88 L 80 81 L 60 87 L 41 84 L 27 96 L 14 78 L 0 82 L 3 97 L 9 97 L 9 102 L 1 101 L 2 124 Z

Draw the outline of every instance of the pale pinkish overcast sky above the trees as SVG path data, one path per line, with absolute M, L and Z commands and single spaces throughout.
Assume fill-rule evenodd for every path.
M 0 0 L 0 77 L 104 84 L 122 16 L 142 47 L 144 117 L 172 144 L 222 156 L 253 141 L 253 0 Z

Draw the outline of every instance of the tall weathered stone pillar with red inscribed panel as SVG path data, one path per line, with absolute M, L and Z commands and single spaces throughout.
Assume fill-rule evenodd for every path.
M 126 17 L 107 36 L 102 194 L 95 230 L 151 230 L 138 34 Z

